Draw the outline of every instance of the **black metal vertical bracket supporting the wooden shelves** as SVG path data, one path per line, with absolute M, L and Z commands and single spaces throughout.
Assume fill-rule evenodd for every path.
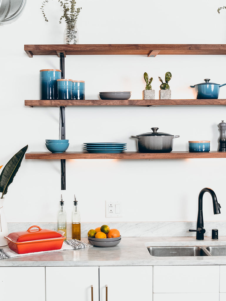
M 64 54 L 60 52 L 60 70 L 61 78 L 65 78 L 65 64 Z M 60 107 L 60 126 L 59 126 L 59 137 L 60 139 L 66 139 L 65 137 L 65 107 Z M 66 190 L 66 160 L 60 160 L 60 173 L 61 173 L 61 190 Z

